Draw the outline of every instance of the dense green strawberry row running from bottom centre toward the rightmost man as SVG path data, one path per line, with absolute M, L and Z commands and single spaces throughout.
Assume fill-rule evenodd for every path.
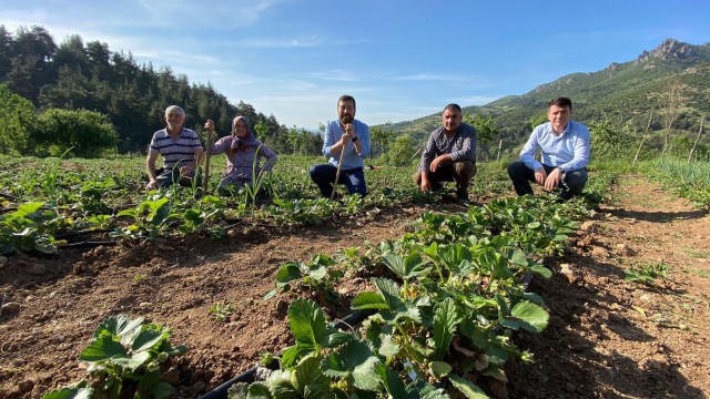
M 480 388 L 453 372 L 505 380 L 506 361 L 531 360 L 530 354 L 510 342 L 510 334 L 540 332 L 549 316 L 542 299 L 525 291 L 524 277 L 551 276 L 534 259 L 564 247 L 577 228 L 570 215 L 579 215 L 574 202 L 497 200 L 464 214 L 426 212 L 418 228 L 397 242 L 381 243 L 364 255 L 354 248 L 344 252 L 341 260 L 351 267 L 384 266 L 389 273 L 379 273 L 382 277 L 371 280 L 374 289 L 352 303 L 353 309 L 376 313 L 364 323 L 362 338 L 353 337 L 324 355 L 328 350 L 317 344 L 328 341 L 321 313 L 315 305 L 300 305 L 294 321 L 301 321 L 292 323 L 292 329 L 301 344 L 284 352 L 282 367 L 293 372 L 303 359 L 324 358 L 320 369 L 341 379 L 332 380 L 331 387 L 346 392 L 384 389 L 393 397 L 408 397 L 413 386 L 405 387 L 392 374 L 393 367 L 405 370 L 414 386 L 448 378 L 466 397 L 485 397 Z M 361 366 L 366 368 L 358 371 Z M 376 377 L 365 372 L 371 369 Z M 358 377 L 364 380 L 357 382 Z M 274 393 L 273 386 L 270 389 Z

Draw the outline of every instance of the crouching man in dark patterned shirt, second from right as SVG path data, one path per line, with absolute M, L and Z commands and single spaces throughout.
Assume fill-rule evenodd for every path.
M 443 126 L 429 135 L 414 182 L 422 192 L 442 190 L 442 182 L 456 182 L 456 197 L 468 203 L 468 185 L 476 175 L 474 126 L 462 123 L 462 108 L 448 104 L 442 114 Z

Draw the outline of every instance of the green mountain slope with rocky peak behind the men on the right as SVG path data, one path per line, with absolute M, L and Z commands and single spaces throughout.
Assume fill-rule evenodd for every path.
M 558 96 L 572 100 L 577 121 L 589 123 L 606 117 L 617 125 L 630 121 L 640 132 L 646 130 L 653 108 L 651 131 L 661 131 L 671 88 L 682 98 L 677 101 L 680 114 L 674 130 L 697 133 L 701 115 L 710 116 L 710 43 L 693 45 L 667 39 L 633 61 L 613 62 L 591 73 L 571 73 L 523 95 L 466 106 L 464 113 L 491 115 L 507 147 L 523 143 L 529 133 L 528 121 L 542 115 L 547 103 Z M 409 134 L 420 143 L 439 124 L 440 114 L 436 113 L 383 129 Z

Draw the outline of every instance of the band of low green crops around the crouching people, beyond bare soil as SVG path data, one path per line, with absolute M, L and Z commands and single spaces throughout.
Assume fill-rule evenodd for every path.
M 105 233 L 111 238 L 105 244 L 193 233 L 220 238 L 240 222 L 315 225 L 368 209 L 439 200 L 414 187 L 410 170 L 389 167 L 366 171 L 371 194 L 365 198 L 344 196 L 332 202 L 320 197 L 306 174 L 308 160 L 298 157 L 280 162 L 282 170 L 263 182 L 260 193 L 243 190 L 225 197 L 178 186 L 145 192 L 136 161 L 0 158 L 4 163 L 0 168 L 0 254 L 53 253 Z M 499 165 L 480 170 L 476 195 L 509 191 Z

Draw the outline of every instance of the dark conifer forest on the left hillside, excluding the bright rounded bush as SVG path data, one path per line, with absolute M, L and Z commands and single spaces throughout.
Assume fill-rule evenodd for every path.
M 187 76 L 176 75 L 170 66 L 155 70 L 151 64 L 139 64 L 130 52 L 110 51 L 100 41 L 84 43 L 77 34 L 57 45 L 41 27 L 20 27 L 16 34 L 4 30 L 2 33 L 7 53 L 0 57 L 0 82 L 39 109 L 88 110 L 108 115 L 119 137 L 113 144 L 118 144 L 121 153 L 145 151 L 146 137 L 164 125 L 163 113 L 171 104 L 182 105 L 187 113 L 187 126 L 197 131 L 204 120 L 212 119 L 219 131 L 229 132 L 232 117 L 244 115 L 255 127 L 260 126 L 260 140 L 278 153 L 294 153 L 286 143 L 287 129 L 275 116 L 256 112 L 242 101 L 232 104 L 211 84 L 191 84 Z M 6 57 L 11 64 L 2 65 Z M 3 100 L 0 105 L 6 109 Z M 8 129 L 18 134 L 33 131 L 31 119 L 26 117 L 21 119 L 20 129 Z M 0 151 L 6 150 L 1 133 Z M 321 137 L 311 133 L 304 137 L 308 139 L 305 153 L 320 153 Z M 32 143 L 22 141 L 22 135 L 10 139 L 14 141 L 8 142 L 7 149 L 34 153 Z M 69 146 L 84 150 L 75 143 L 64 149 Z M 63 152 L 40 150 L 38 154 Z

